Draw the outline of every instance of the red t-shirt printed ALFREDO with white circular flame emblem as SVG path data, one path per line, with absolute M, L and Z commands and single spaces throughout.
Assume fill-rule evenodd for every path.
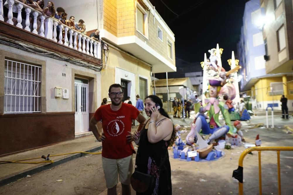
M 119 110 L 113 111 L 110 104 L 99 107 L 94 117 L 102 119 L 105 141 L 102 143 L 102 156 L 110 159 L 120 159 L 135 153 L 131 142 L 126 140 L 131 131 L 132 119 L 136 119 L 139 111 L 131 104 L 122 103 Z

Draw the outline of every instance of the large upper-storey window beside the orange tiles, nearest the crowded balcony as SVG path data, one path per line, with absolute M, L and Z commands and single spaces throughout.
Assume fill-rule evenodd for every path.
M 147 17 L 147 12 L 144 11 L 144 9 L 137 4 L 137 9 L 136 9 L 136 29 L 139 33 L 144 35 L 145 37 L 148 38 L 148 17 Z

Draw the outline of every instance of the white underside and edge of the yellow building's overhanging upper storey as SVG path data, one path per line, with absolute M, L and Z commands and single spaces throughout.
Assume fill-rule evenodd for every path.
M 116 37 L 107 30 L 100 30 L 100 37 L 116 47 L 132 54 L 134 57 L 145 61 L 153 67 L 153 73 L 175 72 L 176 66 L 161 54 L 143 42 L 137 36 Z

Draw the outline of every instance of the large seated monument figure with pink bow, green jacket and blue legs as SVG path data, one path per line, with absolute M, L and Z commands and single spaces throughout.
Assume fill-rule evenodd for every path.
M 205 99 L 205 110 L 208 111 L 209 123 L 206 121 L 206 117 L 203 115 L 198 115 L 195 125 L 193 126 L 194 130 L 202 134 L 212 134 L 207 140 L 207 143 L 217 139 L 221 136 L 224 136 L 229 130 L 232 131 L 233 127 L 231 125 L 229 112 L 224 107 L 224 102 L 219 102 L 218 93 L 221 90 L 221 81 L 219 80 L 209 80 L 209 99 Z M 220 111 L 223 114 L 226 125 L 221 126 L 219 123 L 219 113 Z M 196 134 L 195 134 L 196 135 Z

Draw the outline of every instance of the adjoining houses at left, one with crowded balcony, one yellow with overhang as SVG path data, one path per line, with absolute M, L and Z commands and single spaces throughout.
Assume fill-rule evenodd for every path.
M 151 94 L 152 73 L 176 71 L 174 34 L 147 0 L 56 2 L 85 21 L 86 35 L 7 2 L 0 6 L 0 155 L 91 134 L 89 119 L 111 84 L 135 104 L 136 94 Z M 14 18 L 13 7 L 26 17 Z M 100 41 L 89 37 L 96 29 Z

